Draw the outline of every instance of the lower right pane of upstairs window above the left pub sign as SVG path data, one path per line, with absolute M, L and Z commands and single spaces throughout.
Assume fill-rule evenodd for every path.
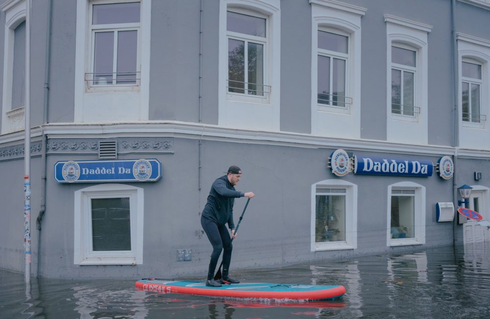
M 118 84 L 136 83 L 137 46 L 138 31 L 118 32 Z

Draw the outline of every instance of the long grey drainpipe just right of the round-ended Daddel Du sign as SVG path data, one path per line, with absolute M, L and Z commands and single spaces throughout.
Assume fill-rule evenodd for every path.
M 453 109 L 453 120 L 454 120 L 454 136 L 453 136 L 453 146 L 454 152 L 454 176 L 453 176 L 453 204 L 454 207 L 458 205 L 458 147 L 459 147 L 459 113 L 458 113 L 458 90 L 459 90 L 459 73 L 458 73 L 458 43 L 456 41 L 456 0 L 451 0 L 451 35 L 452 35 L 452 46 L 453 46 L 453 84 L 454 84 L 454 109 Z M 453 220 L 453 246 L 456 243 L 456 225 L 458 223 L 458 216 Z

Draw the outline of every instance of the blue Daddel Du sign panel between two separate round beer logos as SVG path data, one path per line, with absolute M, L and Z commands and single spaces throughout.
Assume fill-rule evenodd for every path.
M 429 177 L 433 170 L 431 160 L 355 156 L 355 174 Z

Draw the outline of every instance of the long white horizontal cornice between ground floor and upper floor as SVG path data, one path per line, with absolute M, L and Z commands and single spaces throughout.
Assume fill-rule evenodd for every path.
M 348 139 L 336 137 L 321 137 L 310 134 L 293 132 L 252 131 L 222 127 L 211 124 L 199 124 L 178 121 L 141 121 L 127 123 L 56 123 L 47 124 L 31 130 L 32 137 L 43 134 L 49 136 L 51 142 L 56 139 L 86 139 L 118 138 L 128 140 L 128 137 L 141 140 L 152 138 L 180 137 L 193 139 L 218 140 L 235 143 L 286 145 L 304 148 L 339 148 L 348 150 L 383 153 L 418 154 L 427 156 L 454 155 L 451 146 L 414 145 L 393 143 L 371 139 Z M 0 136 L 2 143 L 22 141 L 23 132 Z

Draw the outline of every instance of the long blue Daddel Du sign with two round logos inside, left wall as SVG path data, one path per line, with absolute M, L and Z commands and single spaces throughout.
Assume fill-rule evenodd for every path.
M 162 163 L 141 160 L 69 160 L 54 164 L 54 179 L 73 182 L 156 182 L 162 177 Z

